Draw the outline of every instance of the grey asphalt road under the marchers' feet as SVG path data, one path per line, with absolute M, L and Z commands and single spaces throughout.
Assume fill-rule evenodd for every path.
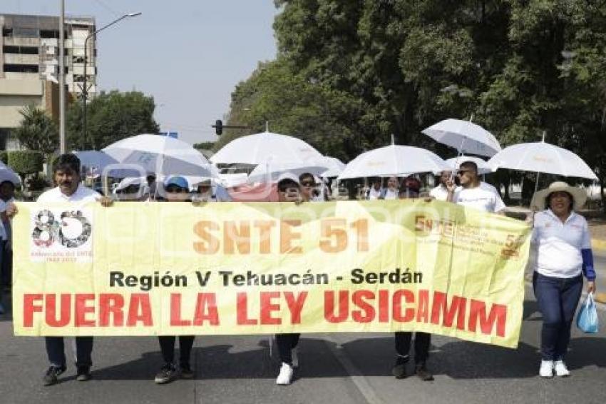
M 570 378 L 538 378 L 540 313 L 527 288 L 518 349 L 433 335 L 429 365 L 436 380 L 391 376 L 389 334 L 304 335 L 301 368 L 287 387 L 275 385 L 275 349 L 267 337 L 199 336 L 193 351 L 196 378 L 155 385 L 160 368 L 155 338 L 96 338 L 93 380 L 74 380 L 70 364 L 62 383 L 43 387 L 42 338 L 16 338 L 0 316 L 0 403 L 600 403 L 606 402 L 606 311 L 602 330 L 573 330 Z M 68 344 L 69 346 L 69 344 Z

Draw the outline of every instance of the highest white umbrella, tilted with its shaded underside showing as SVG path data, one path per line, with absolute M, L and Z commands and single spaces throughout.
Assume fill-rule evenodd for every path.
M 456 148 L 459 152 L 490 157 L 500 151 L 495 136 L 471 121 L 445 119 L 423 129 L 422 133 L 446 146 Z

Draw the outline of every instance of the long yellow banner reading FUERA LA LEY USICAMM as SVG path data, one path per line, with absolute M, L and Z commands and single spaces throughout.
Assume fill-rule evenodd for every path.
M 438 201 L 19 203 L 16 335 L 418 330 L 518 344 L 530 228 Z

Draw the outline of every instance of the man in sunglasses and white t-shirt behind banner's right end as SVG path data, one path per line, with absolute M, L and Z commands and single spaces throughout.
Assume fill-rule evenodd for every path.
M 505 203 L 496 188 L 478 178 L 476 163 L 473 161 L 461 163 L 457 176 L 461 186 L 455 188 L 453 181 L 448 181 L 448 201 L 483 212 L 505 213 Z

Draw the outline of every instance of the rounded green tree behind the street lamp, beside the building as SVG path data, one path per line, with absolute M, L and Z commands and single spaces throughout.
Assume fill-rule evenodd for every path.
M 101 92 L 86 106 L 86 131 L 83 138 L 82 103 L 68 108 L 67 138 L 72 149 L 101 149 L 115 141 L 141 133 L 158 133 L 160 127 L 153 118 L 153 97 L 139 91 Z

